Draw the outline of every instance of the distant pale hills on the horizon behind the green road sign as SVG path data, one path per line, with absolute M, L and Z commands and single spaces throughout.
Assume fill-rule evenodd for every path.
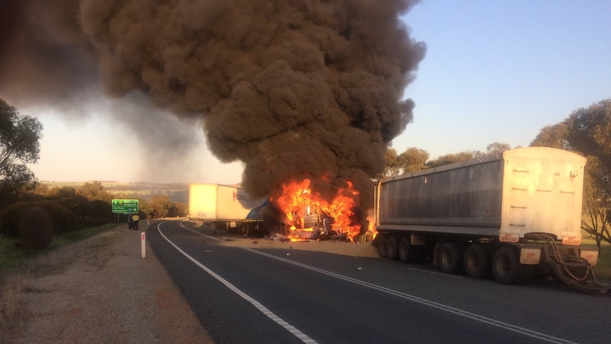
M 94 181 L 89 181 L 94 182 Z M 101 181 L 102 187 L 107 192 L 120 197 L 122 195 L 137 195 L 138 198 L 145 200 L 152 199 L 156 195 L 167 195 L 170 201 L 180 202 L 182 204 L 189 203 L 189 184 L 179 183 L 150 183 L 150 182 L 111 182 Z M 49 182 L 40 181 L 40 184 L 45 184 L 47 187 L 74 187 L 78 189 L 86 182 Z

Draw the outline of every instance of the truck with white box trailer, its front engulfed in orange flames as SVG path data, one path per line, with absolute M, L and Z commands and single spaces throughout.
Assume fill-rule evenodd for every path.
M 357 206 L 359 192 L 348 186 L 326 201 L 310 189 L 310 179 L 283 184 L 263 198 L 251 197 L 241 187 L 190 184 L 189 218 L 203 221 L 214 233 L 235 230 L 275 240 L 354 241 L 366 226 Z

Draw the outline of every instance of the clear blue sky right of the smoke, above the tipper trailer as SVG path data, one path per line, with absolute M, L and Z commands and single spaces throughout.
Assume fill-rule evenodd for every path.
M 393 141 L 430 158 L 493 142 L 527 146 L 544 126 L 611 98 L 611 1 L 422 1 L 405 16 L 427 44 Z

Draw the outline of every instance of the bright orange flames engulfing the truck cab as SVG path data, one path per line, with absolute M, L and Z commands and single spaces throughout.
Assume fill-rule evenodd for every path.
M 310 179 L 283 184 L 281 191 L 272 201 L 284 213 L 287 225 L 291 226 L 291 240 L 300 240 L 304 233 L 311 233 L 314 230 L 313 221 L 323 217 L 332 218 L 332 231 L 345 233 L 348 240 L 352 241 L 360 233 L 361 224 L 354 223 L 353 211 L 359 192 L 351 182 L 348 182 L 348 187 L 340 189 L 331 202 L 312 192 Z

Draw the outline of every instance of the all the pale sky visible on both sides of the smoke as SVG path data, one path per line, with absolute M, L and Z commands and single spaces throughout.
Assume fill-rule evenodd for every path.
M 413 122 L 393 148 L 420 148 L 434 159 L 485 152 L 494 142 L 527 146 L 544 126 L 611 98 L 610 17 L 608 0 L 422 1 L 403 17 L 427 53 L 405 89 L 415 101 Z M 221 163 L 208 151 L 201 128 L 172 116 L 127 128 L 109 121 L 99 102 L 80 110 L 89 116 L 78 121 L 50 109 L 18 111 L 43 123 L 40 159 L 28 165 L 40 181 L 241 180 L 242 163 Z M 156 156 L 133 130 L 172 131 L 189 145 Z

